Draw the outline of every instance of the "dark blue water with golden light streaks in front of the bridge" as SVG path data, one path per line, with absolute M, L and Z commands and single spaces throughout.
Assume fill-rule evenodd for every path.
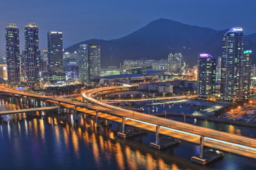
M 198 146 L 192 144 L 185 143 L 177 148 L 160 152 L 148 147 L 148 143 L 154 141 L 154 134 L 152 134 L 153 138 L 150 134 L 143 138 L 141 141 L 144 143 L 135 139 L 116 138 L 115 133 L 119 128 L 117 124 L 113 123 L 109 127 L 102 125 L 97 129 L 94 118 L 88 116 L 56 115 L 49 112 L 20 115 L 12 115 L 10 123 L 4 120 L 0 122 L 0 149 L 4 153 L 0 154 L 0 163 L 3 169 L 11 169 L 15 165 L 22 165 L 25 169 L 221 169 L 224 167 L 220 166 L 220 162 L 206 167 L 191 163 L 189 157 L 198 153 L 195 149 Z M 214 126 L 209 122 L 207 125 Z M 239 129 L 228 125 L 228 131 L 237 133 Z M 186 159 L 177 156 L 187 154 L 188 158 L 184 156 Z M 4 164 L 4 160 L 8 160 L 9 164 Z M 252 167 L 250 163 L 249 167 Z

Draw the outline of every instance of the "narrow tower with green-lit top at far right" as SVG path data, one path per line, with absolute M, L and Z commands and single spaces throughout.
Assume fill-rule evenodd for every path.
M 252 50 L 244 51 L 243 59 L 243 97 L 247 99 L 250 95 L 251 70 L 252 70 Z

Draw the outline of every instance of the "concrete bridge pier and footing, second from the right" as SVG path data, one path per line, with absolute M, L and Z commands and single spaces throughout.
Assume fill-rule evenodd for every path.
M 150 143 L 149 146 L 151 148 L 157 149 L 157 150 L 161 150 L 163 148 L 166 148 L 168 146 L 173 146 L 176 145 L 178 143 L 180 143 L 179 139 L 175 139 L 175 138 L 164 138 L 163 141 L 161 142 L 161 138 L 159 136 L 159 129 L 160 126 L 156 125 L 156 142 L 155 143 Z

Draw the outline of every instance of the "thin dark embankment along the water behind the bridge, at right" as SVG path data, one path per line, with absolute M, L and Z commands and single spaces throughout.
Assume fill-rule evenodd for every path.
M 202 117 L 202 116 L 196 116 L 196 115 L 186 115 L 181 113 L 154 113 L 152 114 L 157 117 L 167 117 L 167 116 L 175 116 L 175 117 L 189 117 L 189 118 L 197 118 L 201 120 L 209 120 L 212 122 L 220 122 L 225 124 L 232 124 L 232 125 L 243 125 L 246 127 L 256 127 L 256 124 L 250 123 L 250 122 L 243 122 L 239 120 L 229 120 L 224 118 L 216 118 L 216 117 Z

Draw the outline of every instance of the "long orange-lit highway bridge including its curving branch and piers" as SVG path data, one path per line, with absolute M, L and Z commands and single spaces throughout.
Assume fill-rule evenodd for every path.
M 155 132 L 156 141 L 151 143 L 151 146 L 154 148 L 161 148 L 160 134 L 172 137 L 174 140 L 171 143 L 173 144 L 177 143 L 177 139 L 195 143 L 200 145 L 200 155 L 198 157 L 192 157 L 191 160 L 200 164 L 206 164 L 211 161 L 211 158 L 208 160 L 205 159 L 206 154 L 204 154 L 204 146 L 256 159 L 256 139 L 254 138 L 186 124 L 137 111 L 125 110 L 123 108 L 102 103 L 93 98 L 99 92 L 125 90 L 129 88 L 131 87 L 102 87 L 98 89 L 84 90 L 82 96 L 91 104 L 70 101 L 68 99 L 37 96 L 35 94 L 28 94 L 1 87 L 0 92 L 18 96 L 35 97 L 50 101 L 51 103 L 57 103 L 59 108 L 61 105 L 65 108 L 75 110 L 76 112 L 79 111 L 87 115 L 92 115 L 95 117 L 95 125 L 99 125 L 100 119 L 118 122 L 122 124 L 122 132 L 119 133 L 119 136 L 122 136 L 123 138 L 129 137 L 129 132 L 125 131 L 127 125 L 145 131 Z

